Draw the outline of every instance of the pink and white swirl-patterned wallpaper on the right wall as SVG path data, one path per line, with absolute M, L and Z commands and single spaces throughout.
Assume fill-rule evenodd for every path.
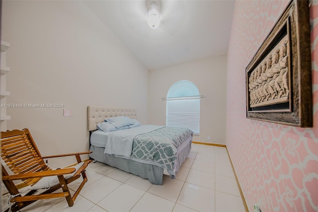
M 236 1 L 228 52 L 227 147 L 249 211 L 318 211 L 318 0 L 310 8 L 314 127 L 246 119 L 245 68 L 289 1 Z

